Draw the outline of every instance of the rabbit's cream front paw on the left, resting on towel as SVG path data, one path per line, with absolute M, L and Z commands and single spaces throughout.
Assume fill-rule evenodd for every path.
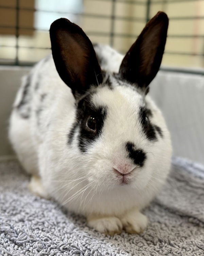
M 122 223 L 117 217 L 89 217 L 88 226 L 109 235 L 120 234 Z

